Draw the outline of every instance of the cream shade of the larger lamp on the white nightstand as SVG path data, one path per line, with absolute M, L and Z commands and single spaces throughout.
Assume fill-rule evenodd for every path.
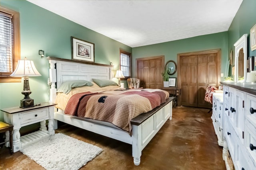
M 19 60 L 18 65 L 14 72 L 10 76 L 41 76 L 41 74 L 36 70 L 33 61 L 27 60 L 26 57 L 24 60 Z

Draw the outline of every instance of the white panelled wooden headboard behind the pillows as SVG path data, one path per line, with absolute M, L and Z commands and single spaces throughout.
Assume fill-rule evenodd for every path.
M 112 65 L 88 63 L 48 57 L 50 68 L 50 102 L 54 102 L 58 87 L 67 80 L 112 79 Z

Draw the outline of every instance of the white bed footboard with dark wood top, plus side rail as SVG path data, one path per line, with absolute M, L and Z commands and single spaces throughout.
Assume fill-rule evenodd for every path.
M 120 129 L 85 121 L 83 118 L 59 112 L 54 113 L 54 119 L 131 144 L 134 164 L 138 166 L 140 164 L 140 156 L 144 147 L 146 147 L 164 123 L 172 117 L 171 100 L 172 98 L 169 98 L 166 104 L 163 104 L 160 108 L 157 107 L 150 113 L 144 113 L 132 119 L 132 136 L 130 136 L 126 131 Z M 57 122 L 54 123 L 54 127 L 57 127 Z

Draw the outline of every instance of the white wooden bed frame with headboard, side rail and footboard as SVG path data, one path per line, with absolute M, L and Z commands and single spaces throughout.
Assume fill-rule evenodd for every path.
M 82 61 L 73 61 L 53 57 L 48 57 L 48 61 L 50 102 L 60 101 L 56 92 L 64 82 L 70 80 L 92 81 L 92 79 L 111 80 L 113 77 L 112 65 L 85 63 Z M 94 84 L 92 87 L 94 87 Z M 114 91 L 120 92 L 119 90 L 126 92 L 126 89 L 121 88 Z M 152 89 L 142 89 L 141 91 L 151 90 Z M 55 108 L 54 129 L 58 128 L 57 121 L 62 121 L 64 123 L 68 123 L 70 125 L 128 143 L 132 145 L 134 164 L 138 166 L 140 164 L 140 156 L 144 147 L 146 147 L 146 145 L 150 142 L 154 135 L 156 135 L 164 123 L 168 119 L 172 119 L 173 99 L 174 98 L 167 97 L 166 101 L 162 102 L 159 106 L 154 108 L 152 107 L 153 109 L 146 113 L 136 115 L 136 117 L 130 120 L 130 130 L 129 128 L 125 129 L 122 127 L 117 127 L 116 125 L 106 121 L 99 121 L 90 118 L 78 117 L 77 115 L 66 114 L 65 111 L 67 112 L 67 110 L 64 110 L 63 107 Z M 102 100 L 104 102 L 104 99 Z

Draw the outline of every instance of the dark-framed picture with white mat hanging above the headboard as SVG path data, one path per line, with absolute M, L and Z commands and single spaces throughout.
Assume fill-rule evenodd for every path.
M 94 43 L 71 36 L 72 60 L 94 63 Z

